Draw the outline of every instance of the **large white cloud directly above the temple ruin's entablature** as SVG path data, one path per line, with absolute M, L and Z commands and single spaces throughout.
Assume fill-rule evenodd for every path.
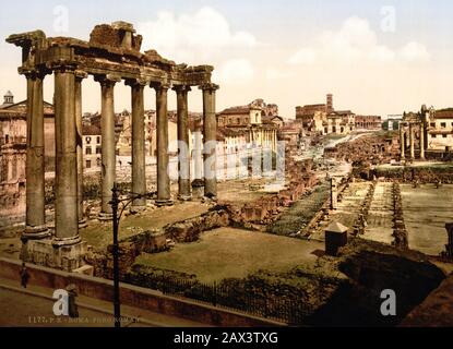
M 166 58 L 196 64 L 225 50 L 243 50 L 258 44 L 252 34 L 234 32 L 226 17 L 208 7 L 180 15 L 158 12 L 155 21 L 140 23 L 138 33 L 144 38 L 142 49 L 155 49 Z

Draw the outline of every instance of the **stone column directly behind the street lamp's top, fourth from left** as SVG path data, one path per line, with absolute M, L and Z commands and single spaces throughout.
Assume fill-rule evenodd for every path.
M 102 207 L 99 219 L 112 218 L 111 189 L 116 180 L 116 152 L 115 152 L 115 100 L 114 87 L 121 79 L 112 75 L 96 76 L 102 91 Z

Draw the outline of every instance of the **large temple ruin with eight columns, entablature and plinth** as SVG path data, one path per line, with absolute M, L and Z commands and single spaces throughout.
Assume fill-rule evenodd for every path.
M 168 167 L 167 95 L 177 95 L 178 139 L 188 143 L 188 94 L 192 86 L 203 92 L 204 195 L 215 197 L 216 141 L 215 92 L 211 82 L 213 67 L 176 64 L 155 50 L 142 53 L 142 36 L 132 24 L 115 22 L 95 26 L 88 41 L 70 37 L 46 37 L 41 31 L 14 34 L 8 43 L 22 48 L 19 73 L 27 81 L 26 140 L 26 229 L 22 234 L 23 258 L 65 270 L 83 266 L 86 243 L 79 234 L 83 225 L 82 209 L 82 82 L 93 75 L 102 89 L 102 212 L 99 219 L 112 217 L 111 189 L 116 181 L 114 88 L 121 81 L 131 87 L 132 100 L 132 192 L 145 194 L 144 93 L 156 91 L 157 110 L 157 205 L 171 205 Z M 44 101 L 43 83 L 55 75 L 56 122 L 56 204 L 55 234 L 45 218 Z M 180 164 L 190 158 L 179 157 Z M 201 161 L 201 159 L 200 159 Z M 189 173 L 180 171 L 179 197 L 191 197 Z M 200 186 L 200 181 L 196 181 Z M 145 207 L 136 198 L 133 209 Z

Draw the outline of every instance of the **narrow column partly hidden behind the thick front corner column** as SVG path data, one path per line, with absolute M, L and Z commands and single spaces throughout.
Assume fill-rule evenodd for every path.
M 75 72 L 75 128 L 78 153 L 78 200 L 79 200 L 79 228 L 86 227 L 83 213 L 83 148 L 82 148 L 82 81 L 88 75 L 83 71 Z

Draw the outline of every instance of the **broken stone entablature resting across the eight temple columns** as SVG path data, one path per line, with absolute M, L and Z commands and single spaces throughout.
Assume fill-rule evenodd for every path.
M 7 41 L 22 47 L 23 70 L 51 72 L 53 67 L 70 62 L 95 76 L 116 74 L 121 80 L 144 79 L 171 86 L 208 85 L 214 70 L 212 65 L 176 64 L 155 50 L 141 52 L 142 37 L 134 34 L 132 25 L 123 22 L 97 25 L 88 41 L 70 37 L 47 38 L 41 31 L 14 34 Z

